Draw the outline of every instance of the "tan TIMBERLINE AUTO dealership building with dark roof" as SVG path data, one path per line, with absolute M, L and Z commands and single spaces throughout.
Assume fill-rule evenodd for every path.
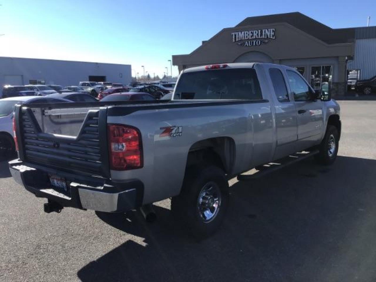
M 266 62 L 296 68 L 315 89 L 347 91 L 349 73 L 376 75 L 376 26 L 332 29 L 299 12 L 249 17 L 203 41 L 188 55 L 174 55 L 179 71 L 199 65 Z

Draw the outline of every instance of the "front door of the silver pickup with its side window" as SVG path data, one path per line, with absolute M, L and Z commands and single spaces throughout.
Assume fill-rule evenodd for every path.
M 290 95 L 297 112 L 297 150 L 304 150 L 320 143 L 323 121 L 321 100 L 311 100 L 313 91 L 303 77 L 293 70 L 286 71 Z

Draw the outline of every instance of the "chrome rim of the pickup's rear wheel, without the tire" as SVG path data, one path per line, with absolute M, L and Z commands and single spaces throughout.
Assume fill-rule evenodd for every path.
M 208 223 L 217 216 L 221 206 L 221 190 L 217 183 L 206 183 L 199 194 L 197 199 L 197 209 L 200 217 L 205 223 Z

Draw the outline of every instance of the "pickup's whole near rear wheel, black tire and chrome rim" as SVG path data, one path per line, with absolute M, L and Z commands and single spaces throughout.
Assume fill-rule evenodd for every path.
M 221 225 L 229 204 L 229 184 L 223 170 L 199 166 L 186 171 L 181 193 L 171 199 L 171 211 L 197 240 Z

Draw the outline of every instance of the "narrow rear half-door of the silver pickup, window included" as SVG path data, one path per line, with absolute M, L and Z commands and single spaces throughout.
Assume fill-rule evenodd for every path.
M 279 159 L 296 152 L 297 113 L 284 73 L 279 68 L 270 67 L 269 77 L 274 90 L 277 127 L 277 147 L 273 159 Z

